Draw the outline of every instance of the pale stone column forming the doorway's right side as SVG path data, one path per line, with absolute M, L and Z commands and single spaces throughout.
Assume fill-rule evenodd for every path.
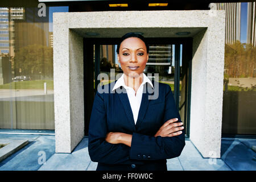
M 210 10 L 193 37 L 190 139 L 203 157 L 220 158 L 225 11 Z

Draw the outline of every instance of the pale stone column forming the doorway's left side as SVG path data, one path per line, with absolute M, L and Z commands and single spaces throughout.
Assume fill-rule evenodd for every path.
M 83 43 L 67 16 L 53 13 L 55 151 L 61 153 L 71 153 L 84 137 Z

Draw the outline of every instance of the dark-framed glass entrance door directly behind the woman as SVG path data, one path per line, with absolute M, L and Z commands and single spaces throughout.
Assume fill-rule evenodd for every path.
M 183 60 L 182 44 L 150 44 L 149 57 L 144 73 L 154 79 L 154 73 L 159 74 L 159 82 L 168 84 L 174 94 L 176 107 L 179 109 L 181 121 L 189 135 L 188 125 L 188 61 Z M 115 76 L 123 73 L 117 60 L 117 45 L 93 44 L 93 89 L 97 92 L 98 84 L 108 84 L 114 80 L 110 78 L 110 69 Z M 98 79 L 98 75 L 104 73 L 105 79 Z M 117 80 L 118 77 L 115 77 Z M 85 88 L 86 89 L 86 88 Z M 88 121 L 89 123 L 89 121 Z

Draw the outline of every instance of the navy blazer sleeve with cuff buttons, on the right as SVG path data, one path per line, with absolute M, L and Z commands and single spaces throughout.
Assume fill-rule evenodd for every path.
M 164 122 L 168 119 L 178 118 L 181 122 L 179 111 L 176 109 L 174 96 L 170 86 L 166 85 L 166 106 L 164 110 Z M 160 160 L 176 158 L 181 154 L 185 146 L 185 132 L 175 137 L 154 137 L 133 133 L 130 148 L 130 159 Z

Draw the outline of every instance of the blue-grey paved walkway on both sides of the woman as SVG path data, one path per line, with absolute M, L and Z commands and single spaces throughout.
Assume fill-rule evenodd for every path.
M 54 135 L 0 134 L 0 138 L 28 139 L 29 143 L 0 162 L 6 170 L 80 170 L 94 171 L 97 163 L 88 154 L 88 138 L 84 137 L 72 154 L 55 154 Z M 236 171 L 256 170 L 256 154 L 251 150 L 256 139 L 222 138 L 221 159 L 205 159 L 190 140 L 178 158 L 168 159 L 169 171 Z M 45 160 L 44 160 L 45 159 Z

